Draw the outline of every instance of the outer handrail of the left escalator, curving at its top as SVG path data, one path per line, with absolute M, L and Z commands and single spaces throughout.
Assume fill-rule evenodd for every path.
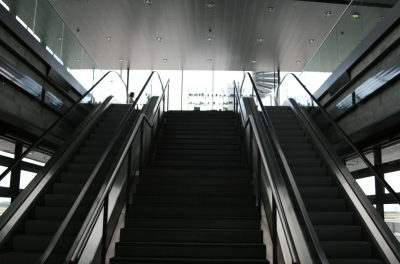
M 18 159 L 15 159 L 13 161 L 13 163 L 0 175 L 0 181 L 11 171 L 13 170 L 19 163 L 22 162 L 22 159 L 24 159 L 26 157 L 26 155 L 29 154 L 29 152 L 31 152 L 36 146 L 39 145 L 40 142 L 42 142 L 42 140 L 50 133 L 50 131 L 56 126 L 58 125 L 62 120 L 64 120 L 64 118 L 72 111 L 74 110 L 79 103 L 91 92 L 93 91 L 94 88 L 97 87 L 97 85 L 105 78 L 107 77 L 109 74 L 111 73 L 116 73 L 118 75 L 118 77 L 121 79 L 121 81 L 123 82 L 123 84 L 125 85 L 125 88 L 127 87 L 127 85 L 125 84 L 124 80 L 122 79 L 122 77 L 119 75 L 118 72 L 116 71 L 108 71 L 106 74 L 103 75 L 103 77 L 100 78 L 100 80 L 98 80 L 89 90 L 86 91 L 86 93 L 84 93 L 61 117 L 59 117 L 57 119 L 56 122 L 54 122 L 45 132 L 43 132 L 43 134 L 39 137 L 39 139 L 33 143 L 30 147 L 28 147 L 24 153 L 22 153 L 21 157 L 19 157 Z

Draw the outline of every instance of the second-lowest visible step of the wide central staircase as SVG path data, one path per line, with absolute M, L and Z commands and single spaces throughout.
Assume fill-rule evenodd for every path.
M 121 257 L 175 258 L 265 258 L 262 244 L 222 243 L 135 243 L 117 242 L 115 255 Z

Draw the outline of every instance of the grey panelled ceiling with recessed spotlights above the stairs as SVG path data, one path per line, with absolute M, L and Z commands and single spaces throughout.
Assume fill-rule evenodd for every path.
M 101 69 L 301 71 L 346 8 L 293 0 L 50 2 Z

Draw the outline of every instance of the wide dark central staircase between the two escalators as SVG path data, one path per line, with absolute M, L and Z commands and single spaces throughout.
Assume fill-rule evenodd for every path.
M 110 263 L 268 263 L 232 112 L 170 111 Z

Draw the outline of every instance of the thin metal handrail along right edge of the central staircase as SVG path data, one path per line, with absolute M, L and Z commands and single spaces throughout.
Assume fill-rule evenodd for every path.
M 233 85 L 234 85 L 233 88 L 234 88 L 234 92 L 235 92 L 235 99 L 237 100 L 237 102 L 239 102 L 240 96 L 239 96 L 239 93 L 238 93 L 238 90 L 237 90 L 236 83 L 234 82 Z M 238 105 L 240 107 L 241 113 L 243 113 L 242 105 L 240 103 L 238 103 Z M 254 117 L 252 115 L 249 115 L 249 117 L 247 118 L 247 121 L 245 121 L 243 119 L 243 114 L 241 114 L 240 116 L 241 116 L 242 123 L 244 124 L 242 126 L 244 130 L 246 130 L 248 125 L 251 125 L 253 128 L 255 127 Z M 263 157 L 262 160 L 265 163 L 265 161 L 267 159 L 265 157 L 264 149 L 263 149 L 262 144 L 261 144 L 260 135 L 259 135 L 259 133 L 258 133 L 258 131 L 256 129 L 253 129 L 253 133 L 254 133 L 254 136 L 256 138 L 257 147 L 260 150 L 260 154 Z M 273 180 L 271 182 L 274 183 Z M 280 217 L 282 219 L 282 228 L 283 228 L 283 232 L 286 234 L 286 241 L 288 242 L 290 255 L 292 256 L 292 264 L 299 264 L 300 263 L 299 256 L 298 256 L 296 247 L 294 246 L 293 236 L 292 236 L 291 232 L 289 231 L 289 224 L 287 222 L 287 217 L 286 217 L 285 211 L 283 209 L 282 200 L 281 200 L 280 195 L 279 195 L 279 193 L 277 191 L 276 185 L 274 184 L 271 187 L 272 187 L 272 190 L 273 190 L 272 193 L 273 193 L 274 199 L 276 201 L 276 205 L 277 205 L 276 209 L 278 210 L 278 214 L 280 215 Z

